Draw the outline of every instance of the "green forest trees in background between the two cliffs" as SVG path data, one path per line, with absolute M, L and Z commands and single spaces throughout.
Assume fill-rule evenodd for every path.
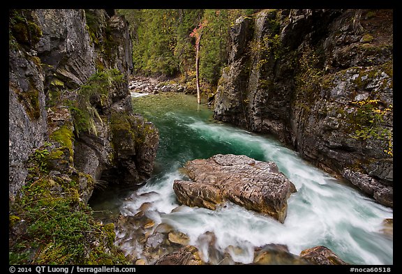
M 195 77 L 195 38 L 202 23 L 200 78 L 215 86 L 228 63 L 230 27 L 253 9 L 143 9 L 117 10 L 129 22 L 133 39 L 134 73 Z

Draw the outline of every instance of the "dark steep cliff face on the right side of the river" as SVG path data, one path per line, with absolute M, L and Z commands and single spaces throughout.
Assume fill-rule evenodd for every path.
M 392 18 L 392 10 L 239 18 L 214 118 L 274 134 L 392 206 Z

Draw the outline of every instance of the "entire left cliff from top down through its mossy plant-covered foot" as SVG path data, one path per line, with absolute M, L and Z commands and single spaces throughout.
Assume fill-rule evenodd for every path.
M 131 105 L 127 22 L 52 9 L 10 10 L 9 22 L 10 254 L 29 254 L 19 264 L 121 263 L 112 227 L 85 208 L 99 181 L 142 183 L 156 156 L 158 131 Z M 82 232 L 59 237 L 54 220 Z

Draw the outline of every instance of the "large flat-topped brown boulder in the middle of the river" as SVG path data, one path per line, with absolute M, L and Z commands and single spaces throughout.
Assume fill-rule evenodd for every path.
M 188 161 L 186 174 L 193 181 L 175 180 L 177 199 L 187 206 L 216 209 L 225 201 L 248 210 L 266 213 L 284 222 L 287 199 L 295 185 L 274 162 L 262 162 L 246 155 L 214 155 Z

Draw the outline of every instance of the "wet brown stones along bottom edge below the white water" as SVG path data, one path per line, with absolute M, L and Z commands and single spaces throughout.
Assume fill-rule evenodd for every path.
M 141 206 L 134 216 L 121 215 L 116 223 L 118 233 L 116 242 L 123 250 L 135 250 L 126 252 L 126 258 L 131 264 L 157 264 L 157 265 L 241 265 L 232 258 L 235 254 L 242 254 L 238 246 L 229 246 L 224 252 L 216 250 L 216 236 L 211 231 L 206 231 L 198 237 L 196 244 L 206 247 L 199 250 L 190 244 L 188 236 L 173 229 L 168 224 L 156 224 L 147 217 L 147 207 Z M 184 208 L 179 206 L 174 212 L 179 213 Z M 126 229 L 131 227 L 131 230 Z M 302 250 L 300 254 L 292 254 L 286 245 L 268 244 L 255 248 L 253 262 L 250 264 L 275 265 L 275 264 L 347 264 L 332 250 L 324 246 L 317 246 Z

